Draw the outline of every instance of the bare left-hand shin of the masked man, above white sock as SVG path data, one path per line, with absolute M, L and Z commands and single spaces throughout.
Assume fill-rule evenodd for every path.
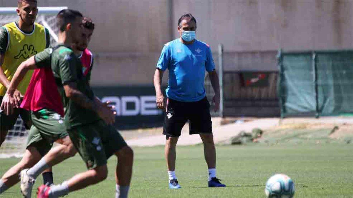
M 164 148 L 164 156 L 167 160 L 168 171 L 175 171 L 175 161 L 177 159 L 177 142 L 179 137 L 168 137 L 166 147 Z

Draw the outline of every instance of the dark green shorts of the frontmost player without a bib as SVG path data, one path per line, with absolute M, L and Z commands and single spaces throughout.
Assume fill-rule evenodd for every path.
M 68 133 L 88 169 L 107 164 L 110 156 L 127 145 L 114 126 L 103 120 L 76 126 Z

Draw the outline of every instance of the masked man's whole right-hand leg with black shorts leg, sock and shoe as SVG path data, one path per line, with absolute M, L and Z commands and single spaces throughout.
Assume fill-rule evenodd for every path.
M 212 134 L 210 104 L 204 99 L 193 103 L 189 117 L 190 134 L 199 134 L 203 142 L 204 156 L 208 166 L 208 186 L 225 187 L 216 177 L 216 148 Z

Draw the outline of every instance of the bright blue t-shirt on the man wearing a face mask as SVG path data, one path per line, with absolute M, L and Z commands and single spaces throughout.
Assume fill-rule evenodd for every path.
M 195 102 L 205 97 L 205 70 L 213 71 L 215 64 L 209 45 L 196 39 L 192 44 L 184 44 L 178 38 L 164 45 L 157 68 L 169 70 L 168 98 Z

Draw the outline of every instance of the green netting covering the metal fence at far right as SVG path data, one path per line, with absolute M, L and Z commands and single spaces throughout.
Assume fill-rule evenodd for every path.
M 353 113 L 353 50 L 278 54 L 281 117 Z

